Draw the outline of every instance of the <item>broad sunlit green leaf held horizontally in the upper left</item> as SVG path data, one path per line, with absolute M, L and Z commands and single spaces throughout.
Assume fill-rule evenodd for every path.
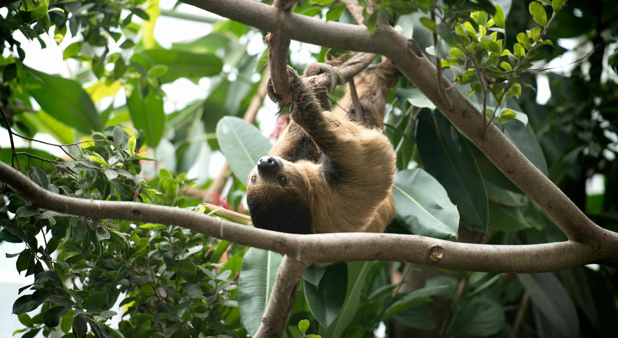
M 223 67 L 221 59 L 214 54 L 148 49 L 143 51 L 142 55 L 151 62 L 151 65 L 161 64 L 168 67 L 167 73 L 159 77 L 161 83 L 172 82 L 181 77 L 197 82 L 202 77 L 219 74 Z

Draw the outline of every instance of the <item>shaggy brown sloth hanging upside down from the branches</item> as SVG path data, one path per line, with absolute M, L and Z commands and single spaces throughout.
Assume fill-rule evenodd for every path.
M 253 225 L 292 234 L 382 232 L 395 216 L 396 174 L 384 105 L 399 71 L 385 60 L 355 77 L 364 124 L 353 121 L 349 88 L 337 109 L 325 111 L 292 67 L 288 75 L 292 122 L 247 182 Z

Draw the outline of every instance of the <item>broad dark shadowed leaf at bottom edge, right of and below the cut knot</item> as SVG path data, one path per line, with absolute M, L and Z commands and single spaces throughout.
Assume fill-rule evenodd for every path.
M 446 336 L 488 337 L 497 334 L 505 325 L 504 309 L 499 303 L 476 297 L 453 315 Z

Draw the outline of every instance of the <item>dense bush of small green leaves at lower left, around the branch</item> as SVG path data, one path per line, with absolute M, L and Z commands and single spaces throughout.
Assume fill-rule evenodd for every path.
M 108 133 L 93 134 L 95 142 L 88 142 L 83 156 L 56 165 L 56 172 L 30 166 L 32 180 L 75 198 L 184 204 L 178 198 L 188 183 L 184 175 L 172 177 L 162 169 L 158 182 L 152 182 L 161 192 L 150 188 L 138 174 L 140 161 L 147 158 L 135 154 L 143 137 L 129 137 L 121 127 L 109 128 Z M 232 299 L 237 292 L 233 278 L 239 266 L 219 263 L 229 243 L 175 226 L 90 221 L 36 208 L 8 192 L 5 187 L 2 239 L 25 243 L 26 248 L 7 258 L 17 256 L 17 271 L 35 276 L 32 284 L 20 289 L 34 292 L 13 306 L 27 326 L 19 332 L 27 331 L 27 337 L 41 329 L 45 336 L 62 330 L 64 337 L 85 337 L 88 331 L 95 337 L 245 336 L 242 329 L 234 331 L 239 315 Z M 38 243 L 41 237 L 43 243 Z M 110 309 L 118 301 L 130 316 L 116 329 L 106 322 L 117 315 Z M 27 314 L 40 305 L 38 315 Z M 222 324 L 223 319 L 235 325 Z

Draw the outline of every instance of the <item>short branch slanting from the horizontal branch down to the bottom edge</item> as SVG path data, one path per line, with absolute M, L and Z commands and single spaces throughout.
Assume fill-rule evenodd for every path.
M 287 319 L 292 312 L 300 281 L 309 264 L 294 256 L 285 255 L 279 265 L 274 281 L 273 292 L 266 306 L 262 324 L 253 338 L 279 338 L 287 326 Z

